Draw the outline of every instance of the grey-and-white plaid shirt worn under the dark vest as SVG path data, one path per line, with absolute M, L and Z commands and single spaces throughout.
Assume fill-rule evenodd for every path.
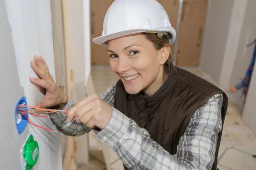
M 100 96 L 112 107 L 115 91 L 115 85 L 111 85 Z M 222 94 L 216 94 L 198 108 L 180 138 L 175 155 L 170 155 L 150 138 L 147 130 L 115 108 L 106 127 L 94 132 L 131 170 L 209 170 L 215 159 L 218 133 L 222 129 L 222 99 Z M 64 109 L 71 108 L 73 104 L 69 99 Z M 66 135 L 80 136 L 91 130 L 74 119 L 66 122 L 63 113 L 51 116 L 59 130 Z

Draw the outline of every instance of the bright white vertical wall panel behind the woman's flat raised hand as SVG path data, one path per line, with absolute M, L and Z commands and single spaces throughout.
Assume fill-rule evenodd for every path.
M 24 89 L 28 105 L 35 106 L 44 96 L 29 82 L 29 77 L 36 77 L 29 65 L 33 55 L 44 57 L 50 74 L 55 79 L 50 2 L 49 0 L 6 0 L 5 2 L 12 29 L 20 86 Z M 37 125 L 56 130 L 50 119 L 33 116 L 29 116 L 29 119 Z M 32 125 L 28 127 L 39 144 L 39 159 L 34 170 L 61 170 L 59 133 L 48 132 Z

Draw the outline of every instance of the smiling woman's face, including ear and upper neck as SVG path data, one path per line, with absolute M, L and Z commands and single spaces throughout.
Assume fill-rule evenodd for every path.
M 167 77 L 164 63 L 169 52 L 169 46 L 156 50 L 143 34 L 108 41 L 111 69 L 120 77 L 128 94 L 143 91 L 151 96 L 160 88 Z

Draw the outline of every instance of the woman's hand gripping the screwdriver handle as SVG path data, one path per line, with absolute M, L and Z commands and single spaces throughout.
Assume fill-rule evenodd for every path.
M 67 112 L 67 121 L 75 118 L 76 122 L 83 123 L 87 127 L 99 127 L 103 129 L 112 114 L 112 108 L 104 102 L 98 95 L 91 94 L 77 102 Z

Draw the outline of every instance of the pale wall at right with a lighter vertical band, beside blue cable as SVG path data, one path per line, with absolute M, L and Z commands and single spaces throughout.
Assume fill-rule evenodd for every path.
M 210 0 L 200 67 L 223 90 L 241 82 L 252 58 L 247 43 L 256 37 L 255 0 Z M 243 108 L 241 91 L 229 94 Z

